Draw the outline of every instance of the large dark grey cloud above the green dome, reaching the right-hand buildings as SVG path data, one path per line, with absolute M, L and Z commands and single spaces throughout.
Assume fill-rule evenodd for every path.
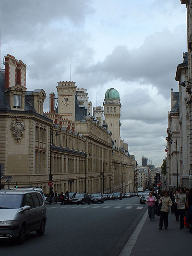
M 182 28 L 182 29 L 181 29 Z M 89 66 L 79 66 L 76 72 L 88 77 L 100 77 L 102 82 L 121 79 L 124 82 L 151 84 L 159 93 L 168 97 L 171 87 L 177 88 L 175 72 L 182 62 L 185 45 L 184 26 L 177 27 L 174 33 L 168 29 L 156 32 L 145 38 L 138 49 L 128 50 L 127 46 L 116 46 L 104 61 Z M 100 81 L 101 82 L 101 81 Z

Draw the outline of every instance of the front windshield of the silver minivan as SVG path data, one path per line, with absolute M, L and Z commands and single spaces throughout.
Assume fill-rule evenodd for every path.
M 15 209 L 22 206 L 23 195 L 0 194 L 0 209 Z

